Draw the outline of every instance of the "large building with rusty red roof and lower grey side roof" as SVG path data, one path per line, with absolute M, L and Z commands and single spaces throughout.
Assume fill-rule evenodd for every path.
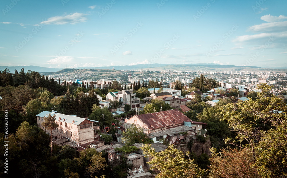
M 193 139 L 195 135 L 193 128 L 183 125 L 185 121 L 191 120 L 179 110 L 171 109 L 133 116 L 123 124 L 123 127 L 127 129 L 134 124 L 142 128 L 154 143 L 165 139 L 170 144 L 179 144 Z

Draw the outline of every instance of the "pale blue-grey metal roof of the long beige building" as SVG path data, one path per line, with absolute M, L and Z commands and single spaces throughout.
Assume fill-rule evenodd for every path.
M 69 116 L 69 115 L 65 115 L 65 114 L 60 114 L 57 112 L 51 112 L 51 111 L 43 111 L 40 114 L 37 114 L 36 116 L 38 117 L 47 117 L 47 115 L 49 115 L 49 113 L 51 114 L 51 116 L 53 116 L 54 114 L 56 115 L 56 121 L 59 121 L 59 118 L 61 118 L 61 122 L 66 122 L 66 123 L 70 123 L 70 124 L 75 124 L 75 125 L 79 125 L 81 124 L 84 120 L 84 118 L 79 118 L 77 116 Z M 65 121 L 64 121 L 65 119 Z M 73 121 L 75 121 L 73 123 Z

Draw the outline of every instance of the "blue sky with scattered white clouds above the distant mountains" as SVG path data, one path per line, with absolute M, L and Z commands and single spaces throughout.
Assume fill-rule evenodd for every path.
M 0 65 L 287 66 L 286 7 L 286 0 L 3 0 Z

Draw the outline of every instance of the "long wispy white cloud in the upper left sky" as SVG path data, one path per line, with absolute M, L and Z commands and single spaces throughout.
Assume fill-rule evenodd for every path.
M 87 20 L 88 14 L 85 13 L 73 13 L 65 16 L 55 16 L 55 17 L 50 17 L 46 21 L 42 21 L 40 24 L 45 24 L 45 25 L 65 25 L 65 24 L 78 24 L 81 22 L 85 22 Z

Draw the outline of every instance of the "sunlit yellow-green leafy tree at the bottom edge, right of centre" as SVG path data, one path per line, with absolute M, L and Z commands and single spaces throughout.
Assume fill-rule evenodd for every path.
M 150 144 L 146 144 L 141 147 L 145 157 L 151 158 L 148 164 L 152 169 L 157 169 L 158 174 L 156 178 L 185 178 L 185 177 L 202 177 L 204 171 L 197 167 L 193 159 L 189 158 L 189 151 L 182 152 L 174 147 L 174 145 L 168 146 L 168 148 L 161 152 L 155 152 L 154 148 L 151 148 Z M 187 159 L 185 159 L 187 155 Z

